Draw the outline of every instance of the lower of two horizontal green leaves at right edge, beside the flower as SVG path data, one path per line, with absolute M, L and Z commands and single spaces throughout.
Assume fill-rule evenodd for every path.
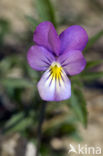
M 84 81 L 91 81 L 98 78 L 103 78 L 103 72 L 82 72 L 80 78 Z

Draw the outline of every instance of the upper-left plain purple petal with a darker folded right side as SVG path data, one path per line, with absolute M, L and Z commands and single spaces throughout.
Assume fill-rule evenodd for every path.
M 40 23 L 34 32 L 33 40 L 36 44 L 44 46 L 55 55 L 59 55 L 60 39 L 51 22 Z

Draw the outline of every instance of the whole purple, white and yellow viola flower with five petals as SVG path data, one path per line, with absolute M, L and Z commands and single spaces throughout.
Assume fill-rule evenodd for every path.
M 86 66 L 82 54 L 88 42 L 86 31 L 73 25 L 58 36 L 53 24 L 46 21 L 37 26 L 33 41 L 27 59 L 32 69 L 45 71 L 37 84 L 40 97 L 46 101 L 68 99 L 71 82 L 67 75 L 79 74 Z

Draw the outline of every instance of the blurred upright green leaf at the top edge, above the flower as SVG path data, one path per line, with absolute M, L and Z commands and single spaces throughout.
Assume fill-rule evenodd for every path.
M 41 21 L 51 21 L 56 26 L 55 12 L 50 0 L 36 0 L 36 9 Z

